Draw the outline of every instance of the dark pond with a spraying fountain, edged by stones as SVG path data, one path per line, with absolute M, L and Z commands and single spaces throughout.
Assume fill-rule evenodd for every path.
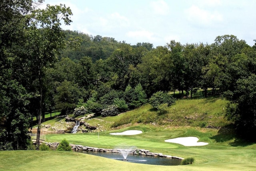
M 181 165 L 180 159 L 172 159 L 166 157 L 154 157 L 154 156 L 146 156 L 146 155 L 134 155 L 128 154 L 126 160 L 121 153 L 110 153 L 110 152 L 100 152 L 100 151 L 84 151 L 78 150 L 76 152 L 90 154 L 90 155 L 97 155 L 100 157 L 106 157 L 109 159 L 120 160 L 124 162 L 132 162 L 132 163 L 142 163 L 142 164 L 149 164 L 149 165 Z

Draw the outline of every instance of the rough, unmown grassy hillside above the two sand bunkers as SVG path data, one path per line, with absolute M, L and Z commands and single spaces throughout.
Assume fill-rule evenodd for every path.
M 92 125 L 101 125 L 104 130 L 120 128 L 136 123 L 159 126 L 199 126 L 218 128 L 230 124 L 224 117 L 228 100 L 222 98 L 201 98 L 177 100 L 168 108 L 167 114 L 160 114 L 146 104 L 138 109 L 112 117 L 98 117 L 88 120 Z

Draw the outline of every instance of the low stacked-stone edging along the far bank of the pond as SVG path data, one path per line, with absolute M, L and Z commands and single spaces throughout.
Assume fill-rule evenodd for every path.
M 58 147 L 59 143 L 54 142 L 54 143 L 49 143 L 45 142 L 46 145 L 49 147 Z M 106 148 L 96 148 L 96 147 L 88 147 L 88 146 L 83 146 L 83 145 L 75 145 L 75 144 L 69 144 L 72 147 L 72 150 L 78 151 L 78 150 L 83 150 L 83 151 L 98 151 L 98 152 L 108 152 L 108 153 L 122 153 L 124 149 L 106 149 Z M 127 149 L 125 149 L 127 151 Z M 183 160 L 184 158 L 182 157 L 177 157 L 177 156 L 171 156 L 171 155 L 164 155 L 162 153 L 152 153 L 149 150 L 146 149 L 129 149 L 128 150 L 129 154 L 134 154 L 134 155 L 147 155 L 147 156 L 156 156 L 156 157 L 166 157 L 166 158 L 172 158 L 172 159 L 180 159 Z

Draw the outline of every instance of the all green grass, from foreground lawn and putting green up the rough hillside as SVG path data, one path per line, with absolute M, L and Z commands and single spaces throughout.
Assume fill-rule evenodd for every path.
M 158 114 L 149 104 L 114 117 L 97 117 L 86 122 L 100 125 L 107 131 L 86 134 L 49 134 L 48 142 L 61 142 L 91 147 L 116 148 L 136 146 L 152 152 L 183 158 L 194 158 L 193 165 L 159 166 L 117 161 L 67 151 L 0 151 L 0 170 L 112 170 L 112 171 L 253 171 L 256 170 L 256 143 L 236 139 L 234 133 L 223 126 L 231 124 L 224 117 L 227 100 L 222 98 L 177 100 L 168 113 Z M 62 118 L 44 124 L 59 123 Z M 127 121 L 128 120 L 128 121 Z M 64 122 L 64 121 L 62 121 Z M 112 127 L 113 124 L 118 127 Z M 124 123 L 120 124 L 120 123 Z M 205 128 L 206 126 L 221 129 Z M 134 136 L 114 136 L 111 132 L 142 130 Z M 252 133 L 253 134 L 253 133 Z M 205 146 L 185 147 L 164 140 L 195 136 Z M 254 135 L 252 135 L 254 136 Z

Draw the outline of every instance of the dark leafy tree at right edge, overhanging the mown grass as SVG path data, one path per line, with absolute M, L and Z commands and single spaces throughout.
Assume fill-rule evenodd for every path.
M 226 115 L 236 126 L 238 135 L 255 141 L 256 131 L 256 75 L 238 79 L 232 101 L 228 105 Z

